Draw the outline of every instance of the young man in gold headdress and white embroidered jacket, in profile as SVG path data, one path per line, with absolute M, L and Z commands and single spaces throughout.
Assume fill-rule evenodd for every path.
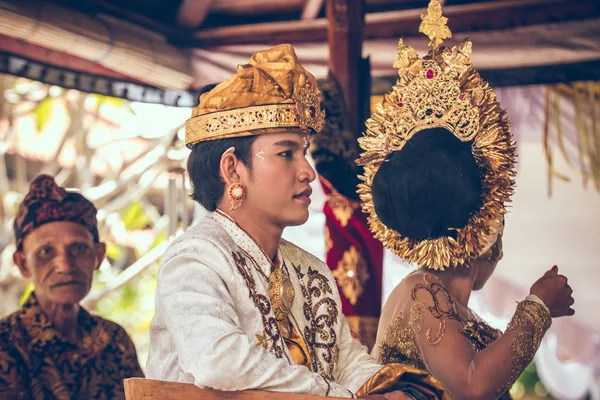
M 308 218 L 307 135 L 323 122 L 317 82 L 290 45 L 255 54 L 201 96 L 186 124 L 188 172 L 211 213 L 162 260 L 148 377 L 334 397 L 388 390 L 388 399 L 422 386 L 441 398 L 427 374 L 382 369 L 352 339 L 327 266 L 281 239 Z

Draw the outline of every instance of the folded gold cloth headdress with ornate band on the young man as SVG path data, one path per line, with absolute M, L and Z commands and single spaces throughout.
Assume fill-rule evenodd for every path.
M 320 132 L 325 122 L 317 81 L 289 44 L 260 51 L 236 75 L 200 97 L 185 124 L 185 144 L 268 133 Z

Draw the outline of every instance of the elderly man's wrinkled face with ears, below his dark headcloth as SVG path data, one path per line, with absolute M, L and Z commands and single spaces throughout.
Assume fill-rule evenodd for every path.
M 90 291 L 105 251 L 104 243 L 95 243 L 83 226 L 51 222 L 27 235 L 13 258 L 33 281 L 40 302 L 76 304 Z

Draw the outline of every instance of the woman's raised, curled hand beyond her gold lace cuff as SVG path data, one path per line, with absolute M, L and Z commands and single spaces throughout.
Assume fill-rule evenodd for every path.
M 575 300 L 573 289 L 567 283 L 567 277 L 558 275 L 558 267 L 554 266 L 533 284 L 530 294 L 540 298 L 550 309 L 552 318 L 575 314 L 571 308 Z

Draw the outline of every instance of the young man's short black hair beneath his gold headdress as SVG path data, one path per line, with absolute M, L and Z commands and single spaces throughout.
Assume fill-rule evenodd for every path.
M 225 191 L 225 182 L 219 175 L 221 156 L 230 147 L 234 154 L 252 168 L 252 143 L 256 136 L 232 139 L 218 139 L 201 142 L 192 148 L 188 157 L 187 170 L 192 184 L 192 199 L 208 211 L 214 211 Z

